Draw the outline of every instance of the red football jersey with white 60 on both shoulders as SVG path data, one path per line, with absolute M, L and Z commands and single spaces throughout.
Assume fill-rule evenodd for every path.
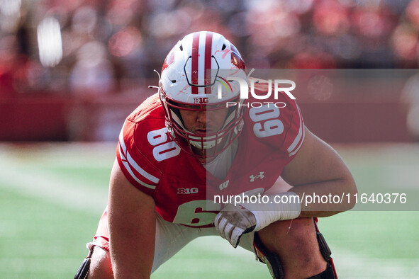
M 263 89 L 262 84 L 257 86 L 256 92 Z M 211 226 L 222 207 L 214 203 L 214 195 L 239 195 L 255 189 L 263 193 L 301 147 L 304 125 L 296 102 L 280 93 L 274 103 L 249 99 L 238 152 L 221 180 L 169 137 L 156 93 L 125 120 L 116 156 L 119 166 L 133 186 L 152 195 L 164 220 Z

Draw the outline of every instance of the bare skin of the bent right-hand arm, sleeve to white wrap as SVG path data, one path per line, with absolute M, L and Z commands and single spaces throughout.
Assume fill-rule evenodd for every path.
M 281 177 L 294 188 L 292 192 L 301 198 L 299 217 L 325 217 L 350 210 L 355 205 L 357 187 L 346 164 L 335 150 L 306 129 L 306 138 L 294 159 L 284 167 Z M 313 200 L 327 196 L 327 203 Z M 334 196 L 344 197 L 340 203 Z M 304 198 L 304 199 L 303 199 Z M 325 199 L 323 199 L 325 201 Z

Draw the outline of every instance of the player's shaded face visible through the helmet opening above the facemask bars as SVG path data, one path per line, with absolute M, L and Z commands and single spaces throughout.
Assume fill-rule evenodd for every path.
M 184 106 L 186 107 L 186 106 Z M 217 110 L 179 110 L 184 126 L 196 135 L 213 134 L 221 130 L 228 108 Z

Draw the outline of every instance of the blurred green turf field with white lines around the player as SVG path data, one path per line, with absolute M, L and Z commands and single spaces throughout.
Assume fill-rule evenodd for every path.
M 74 276 L 106 205 L 115 147 L 0 144 L 0 278 Z M 407 193 L 413 209 L 371 206 L 320 219 L 338 275 L 419 278 L 419 146 L 336 148 L 359 193 Z M 191 242 L 152 278 L 270 276 L 250 252 L 205 237 Z

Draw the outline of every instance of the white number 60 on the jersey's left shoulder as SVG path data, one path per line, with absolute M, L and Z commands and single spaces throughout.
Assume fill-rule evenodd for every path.
M 148 142 L 153 146 L 152 154 L 157 161 L 177 156 L 180 147 L 167 136 L 167 128 L 150 131 L 147 134 Z

